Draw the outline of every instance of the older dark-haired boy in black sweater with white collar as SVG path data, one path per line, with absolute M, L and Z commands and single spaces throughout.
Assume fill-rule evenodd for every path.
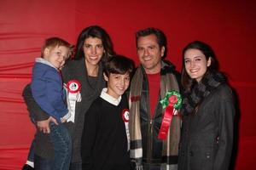
M 105 65 L 102 89 L 84 116 L 81 156 L 84 170 L 130 170 L 129 110 L 126 96 L 133 61 L 114 55 Z

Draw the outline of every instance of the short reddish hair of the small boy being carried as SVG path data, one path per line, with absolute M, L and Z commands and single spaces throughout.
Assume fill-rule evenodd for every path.
M 64 46 L 69 49 L 68 56 L 73 54 L 73 45 L 67 42 L 66 40 L 61 39 L 60 37 L 49 37 L 45 40 L 44 46 L 41 50 L 41 57 L 44 57 L 45 48 L 55 48 Z

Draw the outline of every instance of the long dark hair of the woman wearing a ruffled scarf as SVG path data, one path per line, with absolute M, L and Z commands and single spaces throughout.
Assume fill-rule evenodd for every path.
M 196 82 L 195 79 L 192 79 L 189 77 L 185 69 L 184 54 L 189 49 L 198 49 L 201 51 L 202 54 L 206 56 L 207 60 L 211 59 L 211 65 L 207 67 L 207 73 L 218 72 L 218 60 L 216 59 L 216 56 L 212 48 L 205 42 L 201 42 L 201 41 L 190 42 L 185 48 L 183 48 L 183 67 L 181 72 L 182 73 L 181 82 L 182 82 L 183 88 L 186 91 L 190 90 Z

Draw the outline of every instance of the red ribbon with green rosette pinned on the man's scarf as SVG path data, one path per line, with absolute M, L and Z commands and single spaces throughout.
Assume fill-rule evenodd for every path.
M 160 103 L 166 108 L 164 118 L 158 133 L 158 139 L 165 140 L 171 127 L 172 116 L 176 112 L 176 109 L 181 107 L 181 96 L 175 91 L 168 92 L 165 99 L 162 99 Z

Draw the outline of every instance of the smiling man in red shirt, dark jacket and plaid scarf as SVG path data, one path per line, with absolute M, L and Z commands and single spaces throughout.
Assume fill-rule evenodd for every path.
M 129 98 L 131 161 L 139 170 L 177 169 L 181 119 L 176 111 L 168 121 L 160 100 L 167 92 L 179 92 L 180 75 L 163 60 L 166 36 L 162 31 L 137 31 L 136 40 L 140 65 L 131 80 Z M 160 138 L 160 133 L 166 133 L 165 137 Z

